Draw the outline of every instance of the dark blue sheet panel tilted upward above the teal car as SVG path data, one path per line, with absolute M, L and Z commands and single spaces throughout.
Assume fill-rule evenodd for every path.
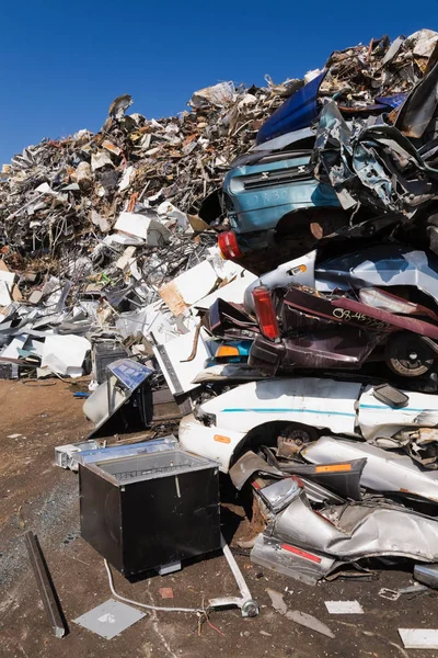
M 257 133 L 256 144 L 307 128 L 318 116 L 318 92 L 326 70 L 301 87 L 276 110 Z

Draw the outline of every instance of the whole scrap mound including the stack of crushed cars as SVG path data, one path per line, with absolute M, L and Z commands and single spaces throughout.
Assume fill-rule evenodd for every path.
M 2 356 L 13 336 L 77 374 L 87 344 L 72 364 L 54 342 L 111 327 L 147 366 L 113 364 L 87 417 L 135 400 L 148 424 L 160 371 L 183 449 L 251 485 L 257 564 L 314 583 L 438 563 L 437 89 L 422 30 L 279 88 L 200 90 L 169 121 L 120 97 L 97 135 L 25 151 L 2 182 L 4 263 L 27 304 L 31 263 L 51 279 L 39 306 L 5 305 Z

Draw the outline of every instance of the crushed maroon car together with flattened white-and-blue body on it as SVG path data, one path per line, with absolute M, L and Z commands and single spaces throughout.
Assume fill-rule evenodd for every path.
M 252 340 L 249 366 L 270 376 L 370 363 L 395 379 L 434 376 L 437 257 L 389 243 L 319 259 L 313 251 L 260 276 L 243 307 L 216 300 L 207 328 L 226 344 Z

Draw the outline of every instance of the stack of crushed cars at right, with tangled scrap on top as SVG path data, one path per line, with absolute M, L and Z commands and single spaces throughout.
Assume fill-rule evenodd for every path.
M 437 42 L 335 53 L 224 182 L 222 251 L 279 264 L 204 315 L 216 360 L 195 381 L 240 383 L 180 441 L 250 487 L 252 560 L 310 585 L 438 563 Z

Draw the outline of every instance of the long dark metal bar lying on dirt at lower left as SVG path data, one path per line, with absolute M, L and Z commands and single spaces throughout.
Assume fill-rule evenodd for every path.
M 56 637 L 66 635 L 66 624 L 62 620 L 62 611 L 56 594 L 56 590 L 51 583 L 50 575 L 44 564 L 43 555 L 33 532 L 27 531 L 24 535 L 28 557 L 31 559 L 32 569 L 34 571 L 36 585 L 39 590 L 41 598 L 44 603 L 48 621 L 54 629 Z

